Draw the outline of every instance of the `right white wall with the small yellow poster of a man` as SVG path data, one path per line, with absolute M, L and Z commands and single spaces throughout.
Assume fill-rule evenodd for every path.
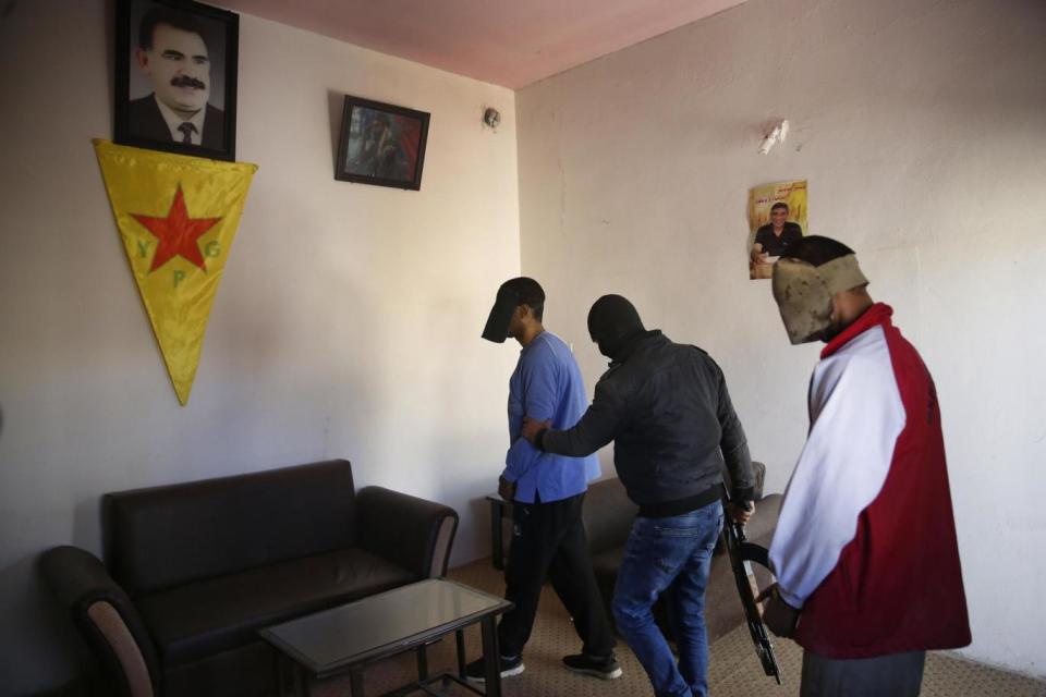
M 707 348 L 783 489 L 819 346 L 749 281 L 749 187 L 810 181 L 808 232 L 858 250 L 937 381 L 974 644 L 1046 674 L 1046 3 L 750 0 L 516 93 L 523 272 L 585 316 L 631 297 Z M 792 135 L 756 154 L 763 129 Z

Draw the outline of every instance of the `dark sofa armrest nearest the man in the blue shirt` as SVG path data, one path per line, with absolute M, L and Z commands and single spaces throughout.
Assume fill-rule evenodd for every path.
M 367 551 L 410 570 L 419 578 L 447 573 L 458 531 L 450 506 L 384 487 L 356 493 L 357 539 Z

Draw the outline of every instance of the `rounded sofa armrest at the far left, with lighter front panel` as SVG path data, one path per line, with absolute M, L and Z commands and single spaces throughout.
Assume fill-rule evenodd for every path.
M 112 680 L 121 697 L 159 694 L 159 660 L 131 598 L 101 561 L 77 547 L 56 547 L 40 572 Z

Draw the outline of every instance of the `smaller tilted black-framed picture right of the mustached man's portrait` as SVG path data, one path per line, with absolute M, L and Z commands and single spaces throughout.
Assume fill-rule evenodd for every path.
M 427 111 L 345 95 L 335 179 L 418 191 Z

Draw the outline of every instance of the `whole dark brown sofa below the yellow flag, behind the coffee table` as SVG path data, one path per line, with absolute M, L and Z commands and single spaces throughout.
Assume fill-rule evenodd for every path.
M 105 667 L 107 695 L 265 695 L 257 631 L 442 576 L 446 505 L 355 491 L 343 460 L 108 493 L 105 557 L 46 552 L 41 571 Z

